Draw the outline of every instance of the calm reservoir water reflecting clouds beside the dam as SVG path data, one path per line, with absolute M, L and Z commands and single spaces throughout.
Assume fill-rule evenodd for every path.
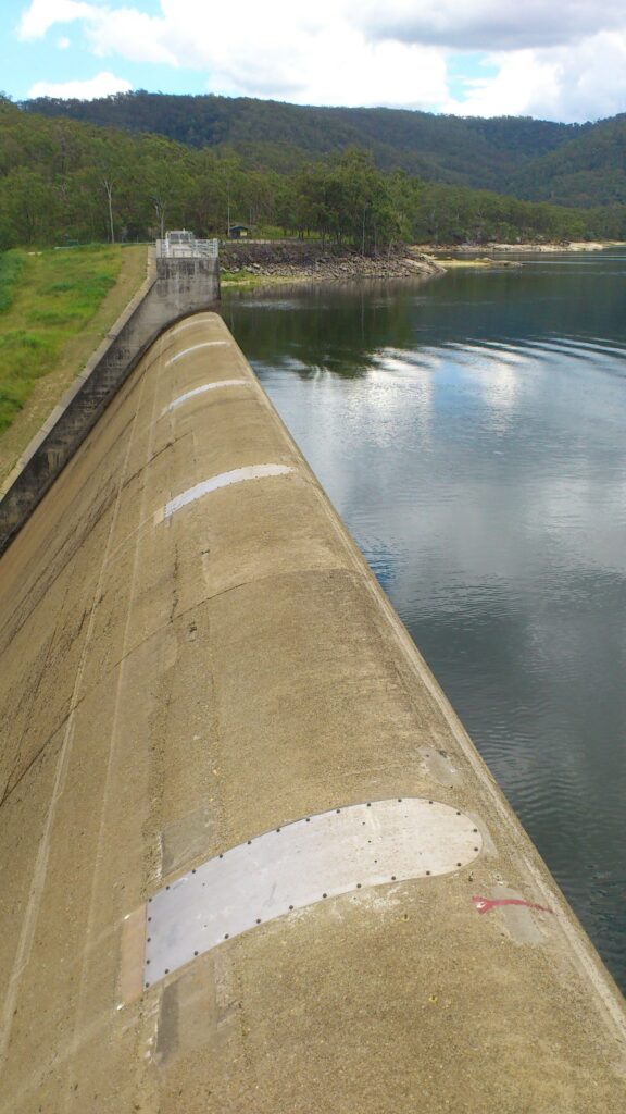
M 626 254 L 224 316 L 626 988 Z

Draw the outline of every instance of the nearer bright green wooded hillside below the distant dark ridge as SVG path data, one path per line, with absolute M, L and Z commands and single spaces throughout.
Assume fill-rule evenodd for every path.
M 50 119 L 0 97 L 0 251 L 148 240 L 165 227 L 223 236 L 238 223 L 365 253 L 403 243 L 626 238 L 625 206 L 573 209 L 427 180 L 381 169 L 355 147 L 301 152 L 268 167 L 228 145 Z

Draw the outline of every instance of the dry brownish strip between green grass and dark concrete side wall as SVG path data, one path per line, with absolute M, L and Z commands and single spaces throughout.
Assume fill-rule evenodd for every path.
M 124 248 L 121 268 L 115 286 L 105 295 L 86 328 L 70 338 L 63 346 L 57 367 L 38 380 L 23 409 L 11 426 L 0 434 L 0 498 L 7 477 L 25 449 L 144 282 L 146 267 L 145 246 Z

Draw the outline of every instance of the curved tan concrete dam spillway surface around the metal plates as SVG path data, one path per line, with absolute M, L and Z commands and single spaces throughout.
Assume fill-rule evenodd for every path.
M 626 1110 L 624 999 L 216 315 L 156 342 L 4 553 L 0 653 L 2 1114 Z M 143 993 L 164 886 L 404 797 L 480 853 Z

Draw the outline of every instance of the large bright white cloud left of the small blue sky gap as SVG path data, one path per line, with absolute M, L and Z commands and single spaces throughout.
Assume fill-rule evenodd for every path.
M 231 0 L 162 0 L 160 17 L 138 8 L 32 0 L 22 38 L 79 19 L 97 57 L 206 70 L 214 91 L 309 104 L 388 104 L 436 108 L 446 61 L 432 47 L 368 39 L 352 0 L 283 7 Z

